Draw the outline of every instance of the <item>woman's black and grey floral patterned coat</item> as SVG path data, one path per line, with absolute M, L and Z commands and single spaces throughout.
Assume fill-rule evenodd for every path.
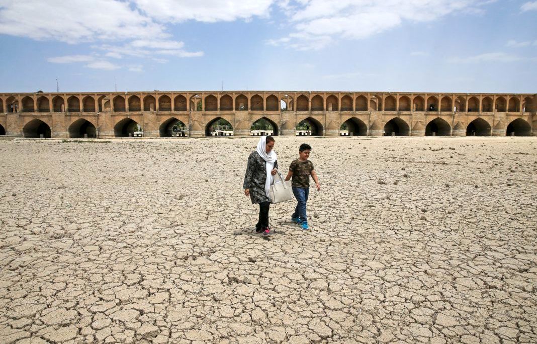
M 274 168 L 278 168 L 278 161 L 274 161 Z M 252 204 L 270 202 L 265 194 L 265 182 L 267 180 L 266 161 L 257 152 L 252 152 L 248 157 L 246 175 L 244 176 L 243 189 L 250 189 Z

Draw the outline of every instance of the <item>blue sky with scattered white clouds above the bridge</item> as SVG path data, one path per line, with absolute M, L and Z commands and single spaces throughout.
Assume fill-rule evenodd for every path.
M 537 1 L 0 0 L 0 92 L 537 92 Z

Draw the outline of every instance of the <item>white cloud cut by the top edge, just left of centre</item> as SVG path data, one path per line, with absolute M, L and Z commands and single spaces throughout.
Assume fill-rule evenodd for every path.
M 137 8 L 157 21 L 176 23 L 197 20 L 216 21 L 249 20 L 254 16 L 268 17 L 273 0 L 134 0 Z

